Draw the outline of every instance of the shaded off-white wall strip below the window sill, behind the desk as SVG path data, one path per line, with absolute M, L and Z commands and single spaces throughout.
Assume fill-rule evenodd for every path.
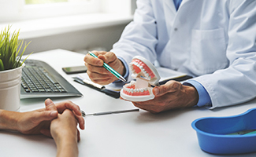
M 112 49 L 113 43 L 117 42 L 126 24 L 110 27 L 100 27 L 84 31 L 74 31 L 60 35 L 50 35 L 39 38 L 27 38 L 24 42 L 30 42 L 26 54 L 42 52 L 50 49 L 67 49 L 78 51 L 81 49 L 92 50 L 95 47 Z

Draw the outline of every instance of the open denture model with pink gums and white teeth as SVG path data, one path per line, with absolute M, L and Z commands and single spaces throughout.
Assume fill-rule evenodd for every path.
M 131 101 L 154 99 L 151 85 L 157 86 L 160 79 L 160 75 L 154 65 L 143 57 L 135 56 L 132 58 L 129 68 L 132 71 L 132 78 L 136 79 L 136 81 L 123 86 L 121 97 L 124 100 Z

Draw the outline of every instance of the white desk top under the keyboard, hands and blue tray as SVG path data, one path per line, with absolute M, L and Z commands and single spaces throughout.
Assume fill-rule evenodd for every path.
M 87 113 L 116 111 L 135 108 L 132 103 L 114 99 L 87 86 L 72 81 L 73 75 L 65 75 L 62 67 L 83 64 L 83 56 L 62 49 L 34 53 L 30 59 L 46 61 L 61 75 L 83 93 L 83 97 L 55 98 L 54 102 L 72 100 Z M 44 99 L 21 100 L 20 111 L 44 108 Z M 87 129 L 81 130 L 78 144 L 80 156 L 91 157 L 134 157 L 134 156 L 256 156 L 247 155 L 210 155 L 198 146 L 195 130 L 191 122 L 206 116 L 238 115 L 256 106 L 256 100 L 232 106 L 208 110 L 190 108 L 168 111 L 158 115 L 147 111 L 129 112 L 117 115 L 87 116 Z M 56 155 L 54 140 L 43 136 L 27 136 L 20 133 L 0 131 L 0 156 L 37 156 Z

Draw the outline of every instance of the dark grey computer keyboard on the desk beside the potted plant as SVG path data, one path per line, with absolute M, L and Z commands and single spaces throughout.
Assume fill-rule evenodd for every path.
M 49 64 L 41 60 L 25 60 L 24 63 L 20 88 L 21 99 L 83 96 Z

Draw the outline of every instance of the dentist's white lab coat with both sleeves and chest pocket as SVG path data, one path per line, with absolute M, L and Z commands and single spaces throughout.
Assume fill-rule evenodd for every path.
M 256 96 L 256 0 L 137 0 L 112 52 L 193 75 L 213 108 Z

